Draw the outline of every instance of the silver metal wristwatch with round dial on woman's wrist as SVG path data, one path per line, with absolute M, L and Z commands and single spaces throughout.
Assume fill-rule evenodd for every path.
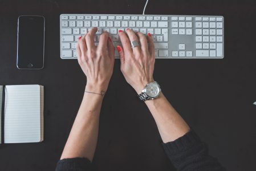
M 161 92 L 161 88 L 157 82 L 148 83 L 141 93 L 138 95 L 142 101 L 156 99 Z

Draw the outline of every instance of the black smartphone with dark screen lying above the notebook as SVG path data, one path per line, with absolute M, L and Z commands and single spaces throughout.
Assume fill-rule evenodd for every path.
M 17 68 L 40 70 L 44 66 L 43 16 L 21 15 L 18 18 Z

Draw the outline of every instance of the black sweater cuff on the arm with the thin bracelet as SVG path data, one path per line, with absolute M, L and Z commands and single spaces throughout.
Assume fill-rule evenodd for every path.
M 91 171 L 92 164 L 87 158 L 65 158 L 59 160 L 55 171 Z

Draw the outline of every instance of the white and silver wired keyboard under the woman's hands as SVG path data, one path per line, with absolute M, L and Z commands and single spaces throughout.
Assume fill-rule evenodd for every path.
M 198 15 L 120 15 L 61 14 L 60 58 L 77 59 L 79 36 L 97 27 L 95 45 L 100 34 L 108 31 L 114 46 L 121 46 L 118 30 L 131 28 L 155 42 L 156 59 L 224 58 L 224 17 Z M 115 58 L 119 53 L 115 50 Z

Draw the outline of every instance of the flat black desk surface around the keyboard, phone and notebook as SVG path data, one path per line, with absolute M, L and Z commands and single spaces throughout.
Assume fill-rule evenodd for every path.
M 0 0 L 0 85 L 42 84 L 44 141 L 0 146 L 0 170 L 54 170 L 83 97 L 86 77 L 59 54 L 59 15 L 141 14 L 145 1 Z M 223 15 L 225 58 L 156 60 L 155 79 L 180 115 L 228 170 L 256 170 L 256 1 L 155 1 L 147 14 Z M 46 18 L 45 67 L 15 66 L 17 18 Z M 98 170 L 175 170 L 155 121 L 125 83 L 116 59 L 100 115 Z

